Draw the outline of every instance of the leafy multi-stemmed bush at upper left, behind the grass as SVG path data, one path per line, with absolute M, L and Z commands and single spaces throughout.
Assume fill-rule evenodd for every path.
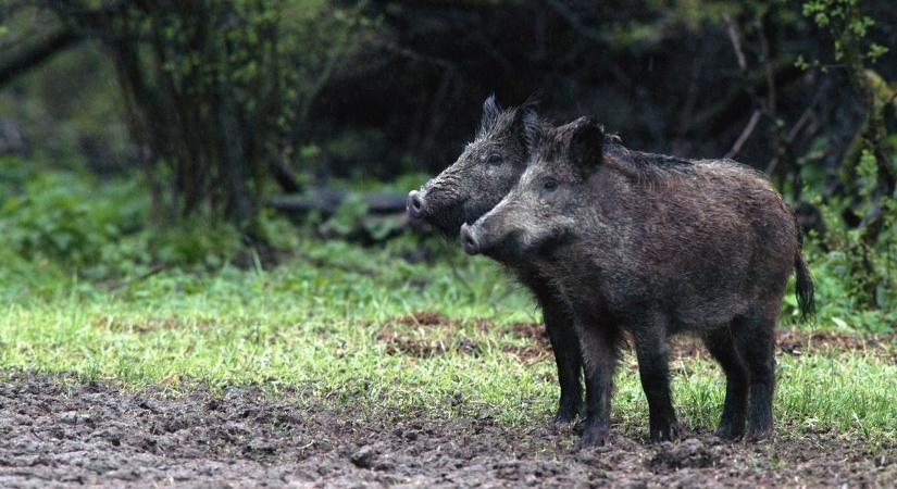
M 322 1 L 48 3 L 108 51 L 154 215 L 246 224 L 356 22 Z M 301 134 L 301 133 L 300 133 Z

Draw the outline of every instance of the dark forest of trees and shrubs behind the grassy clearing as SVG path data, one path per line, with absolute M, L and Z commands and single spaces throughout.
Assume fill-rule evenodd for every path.
M 536 93 L 556 123 L 590 114 L 632 148 L 769 174 L 822 286 L 881 324 L 894 7 L 0 0 L 4 252 L 102 279 L 406 239 L 403 193 L 454 161 L 483 100 Z

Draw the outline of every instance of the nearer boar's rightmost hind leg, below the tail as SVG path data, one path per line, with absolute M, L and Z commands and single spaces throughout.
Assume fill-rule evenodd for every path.
M 769 309 L 769 308 L 764 308 Z M 775 314 L 748 311 L 733 322 L 732 334 L 738 353 L 750 373 L 747 439 L 758 440 L 772 432 L 772 396 L 775 387 Z

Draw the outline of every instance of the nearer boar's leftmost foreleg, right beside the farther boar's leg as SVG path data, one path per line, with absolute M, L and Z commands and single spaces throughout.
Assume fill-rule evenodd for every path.
M 574 326 L 583 353 L 586 380 L 585 430 L 580 438 L 582 449 L 608 442 L 610 398 L 620 334 L 615 327 L 580 316 L 574 318 Z

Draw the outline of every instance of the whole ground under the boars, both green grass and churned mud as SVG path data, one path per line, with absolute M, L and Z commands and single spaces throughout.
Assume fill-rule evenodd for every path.
M 530 298 L 487 260 L 310 242 L 115 281 L 0 268 L 0 487 L 893 487 L 897 336 L 785 308 L 775 437 L 711 432 L 725 380 L 673 342 L 683 439 L 649 444 L 634 355 L 608 447 L 555 427 Z M 2 275 L 5 273 L 7 275 Z M 827 294 L 827 296 L 826 296 Z M 792 301 L 786 298 L 786 301 Z

